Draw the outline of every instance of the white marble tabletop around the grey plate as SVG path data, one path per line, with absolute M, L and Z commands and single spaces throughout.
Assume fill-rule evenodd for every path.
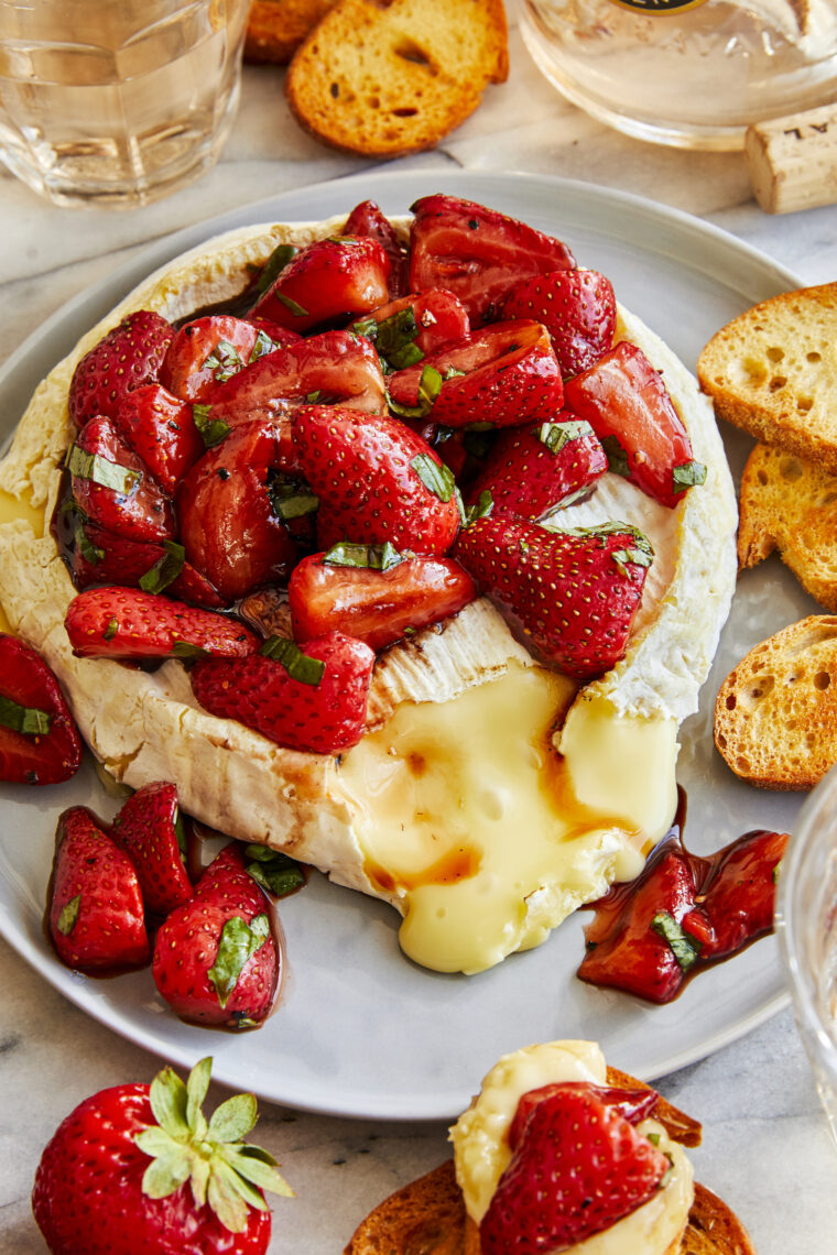
M 837 275 L 837 208 L 770 218 L 752 200 L 739 156 L 675 152 L 607 131 L 540 79 L 514 15 L 512 3 L 508 83 L 489 89 L 477 114 L 438 151 L 400 168 L 587 179 L 699 215 L 806 282 Z M 272 68 L 246 69 L 241 113 L 218 167 L 147 210 L 61 211 L 0 168 L 0 360 L 144 243 L 248 201 L 365 168 L 370 163 L 329 152 L 296 128 L 281 72 Z M 11 417 L 3 420 L 8 425 Z M 36 1255 L 45 1247 L 29 1194 L 44 1143 L 82 1098 L 104 1086 L 151 1079 L 158 1060 L 88 1019 L 1 941 L 0 955 L 0 1251 Z M 664 1078 L 660 1088 L 703 1121 L 698 1176 L 745 1220 L 759 1255 L 837 1251 L 837 1153 L 789 1012 Z M 340 1251 L 374 1204 L 447 1155 L 442 1124 L 331 1119 L 270 1104 L 259 1133 L 297 1192 L 295 1201 L 276 1201 L 275 1255 Z

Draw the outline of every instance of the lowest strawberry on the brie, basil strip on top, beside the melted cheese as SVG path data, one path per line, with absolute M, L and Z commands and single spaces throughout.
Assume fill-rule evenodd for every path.
M 331 754 L 363 735 L 374 661 L 363 641 L 333 631 L 306 641 L 305 651 L 271 636 L 251 658 L 202 659 L 189 676 L 210 714 L 237 719 L 290 749 Z

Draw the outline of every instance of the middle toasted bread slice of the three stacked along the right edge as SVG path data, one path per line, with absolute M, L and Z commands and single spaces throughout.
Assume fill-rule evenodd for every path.
M 742 476 L 739 507 L 739 569 L 778 550 L 806 592 L 837 614 L 837 474 L 757 444 Z

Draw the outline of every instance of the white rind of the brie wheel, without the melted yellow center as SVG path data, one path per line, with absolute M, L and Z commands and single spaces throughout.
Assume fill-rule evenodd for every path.
M 240 228 L 153 274 L 39 385 L 0 464 L 0 488 L 43 507 L 49 520 L 73 434 L 67 408 L 73 370 L 128 312 L 151 309 L 173 321 L 223 301 L 245 287 L 251 267 L 264 262 L 276 245 L 324 238 L 343 221 Z M 405 222 L 399 227 L 405 231 Z M 625 658 L 580 690 L 565 729 L 592 699 L 617 725 L 646 720 L 676 729 L 696 709 L 698 690 L 729 610 L 735 580 L 734 491 L 710 403 L 694 378 L 656 335 L 621 307 L 617 335 L 637 344 L 664 373 L 689 429 L 694 457 L 706 466 L 708 474 L 674 511 L 665 511 L 663 532 L 656 537 L 658 548 L 668 555 L 663 584 L 656 586 L 650 609 L 642 611 Z M 573 507 L 585 515 L 571 518 L 567 513 L 566 521 L 596 518 L 596 510 L 604 511 L 597 518 L 614 517 L 614 510 L 622 505 L 627 513 L 632 507 L 620 496 L 625 491 L 629 498 L 636 492 L 624 482 L 612 491 L 602 489 L 591 502 Z M 630 516 L 625 521 L 636 522 Z M 285 749 L 235 720 L 207 714 L 178 661 L 147 673 L 107 659 L 73 656 L 64 615 L 75 590 L 49 528 L 45 531 L 36 536 L 19 518 L 0 525 L 0 602 L 13 630 L 56 673 L 85 740 L 105 769 L 133 788 L 156 779 L 174 781 L 183 809 L 211 827 L 282 848 L 338 884 L 383 897 L 404 912 L 409 904 L 403 889 L 370 876 L 369 851 L 358 831 L 359 807 L 341 781 L 339 757 Z M 380 728 L 404 703 L 453 702 L 474 685 L 533 666 L 501 614 L 484 599 L 476 601 L 379 658 L 368 727 Z M 562 752 L 567 750 L 565 742 L 565 733 L 556 733 Z M 611 845 L 616 850 L 619 843 Z M 616 866 L 609 858 L 610 880 Z M 526 904 L 533 929 L 528 935 L 520 930 L 509 934 L 491 960 L 479 965 L 498 961 L 521 945 L 537 944 L 580 901 L 606 887 L 602 876 L 600 867 L 597 878 L 575 895 L 558 892 L 556 897 L 555 886 L 536 886 Z M 453 969 L 477 970 L 466 963 L 454 963 Z

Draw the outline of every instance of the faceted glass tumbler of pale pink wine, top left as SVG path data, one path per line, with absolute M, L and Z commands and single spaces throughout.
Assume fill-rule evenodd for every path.
M 146 205 L 215 163 L 250 0 L 0 0 L 0 159 L 58 205 Z

